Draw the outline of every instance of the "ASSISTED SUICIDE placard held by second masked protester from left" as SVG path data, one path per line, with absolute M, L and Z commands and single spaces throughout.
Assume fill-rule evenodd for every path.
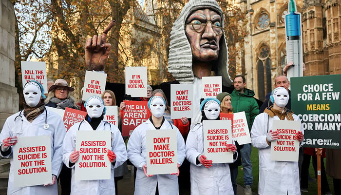
M 110 131 L 77 131 L 76 180 L 110 179 L 111 163 L 107 151 L 111 149 Z

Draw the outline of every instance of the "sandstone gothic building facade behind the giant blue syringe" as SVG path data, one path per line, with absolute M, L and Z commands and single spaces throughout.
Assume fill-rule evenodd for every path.
M 249 25 L 246 29 L 244 61 L 247 88 L 256 98 L 274 88 L 274 78 L 283 74 L 286 64 L 284 15 L 288 0 L 241 0 L 235 5 L 246 10 Z M 341 74 L 341 0 L 296 0 L 302 14 L 303 76 Z M 243 70 L 237 69 L 237 70 Z

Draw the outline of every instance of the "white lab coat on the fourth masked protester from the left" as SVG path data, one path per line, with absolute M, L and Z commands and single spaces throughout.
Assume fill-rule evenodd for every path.
M 190 162 L 191 195 L 234 195 L 228 163 L 214 163 L 210 168 L 201 163 L 196 164 L 197 157 L 204 154 L 202 123 L 189 131 L 186 151 L 186 158 Z M 234 156 L 233 161 L 237 160 L 237 156 Z

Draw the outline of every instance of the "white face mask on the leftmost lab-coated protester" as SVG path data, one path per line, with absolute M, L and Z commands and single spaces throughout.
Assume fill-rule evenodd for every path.
M 40 87 L 35 82 L 29 82 L 23 89 L 24 98 L 28 106 L 35 107 L 38 105 L 41 97 Z

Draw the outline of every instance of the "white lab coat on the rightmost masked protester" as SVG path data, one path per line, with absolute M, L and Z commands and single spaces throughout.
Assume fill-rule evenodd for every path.
M 295 121 L 300 121 L 297 115 L 292 116 Z M 280 118 L 261 113 L 255 118 L 251 129 L 252 145 L 259 149 L 258 194 L 301 195 L 298 162 L 270 160 L 271 146 L 266 142 L 266 135 L 268 131 L 273 130 L 273 120 L 280 120 Z M 268 128 L 267 124 L 269 124 Z M 302 125 L 301 130 L 304 133 Z

